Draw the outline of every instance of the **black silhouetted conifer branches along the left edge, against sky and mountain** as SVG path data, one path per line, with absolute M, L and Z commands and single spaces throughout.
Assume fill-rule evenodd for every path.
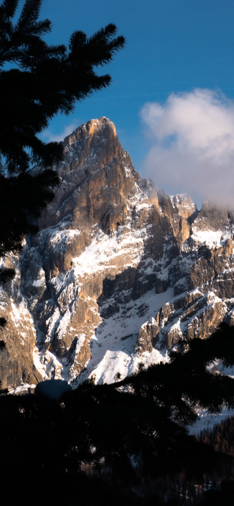
M 68 51 L 64 45 L 49 46 L 42 37 L 51 22 L 37 20 L 42 0 L 26 0 L 14 25 L 18 4 L 4 0 L 0 6 L 0 257 L 22 249 L 25 235 L 37 231 L 34 220 L 54 198 L 53 166 L 62 159 L 63 147 L 41 141 L 38 134 L 59 111 L 69 114 L 76 101 L 109 86 L 110 75 L 99 76 L 94 68 L 109 63 L 125 45 L 109 24 L 90 38 L 75 31 Z M 28 169 L 35 163 L 41 171 L 32 175 Z M 14 274 L 0 269 L 0 282 Z

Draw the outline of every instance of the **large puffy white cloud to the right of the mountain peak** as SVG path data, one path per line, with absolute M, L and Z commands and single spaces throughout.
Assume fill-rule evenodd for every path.
M 145 175 L 168 193 L 206 196 L 234 207 L 234 103 L 220 92 L 195 89 L 140 111 L 153 145 Z

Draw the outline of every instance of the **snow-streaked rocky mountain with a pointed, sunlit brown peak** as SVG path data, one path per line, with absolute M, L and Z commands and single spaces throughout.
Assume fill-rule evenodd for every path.
M 111 382 L 233 323 L 233 213 L 141 179 L 107 118 L 63 146 L 40 232 L 2 260 L 17 266 L 1 292 L 4 387 Z

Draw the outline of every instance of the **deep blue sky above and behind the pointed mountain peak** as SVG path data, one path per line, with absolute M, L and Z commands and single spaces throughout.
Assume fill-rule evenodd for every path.
M 20 2 L 19 8 L 22 4 L 23 2 Z M 152 158 L 152 153 L 157 156 L 157 149 L 152 151 L 152 148 L 159 147 L 159 143 L 161 143 L 161 148 L 167 149 L 168 146 L 170 150 L 173 147 L 178 151 L 178 146 L 173 144 L 174 136 L 180 135 L 180 146 L 185 142 L 181 134 L 181 120 L 179 120 L 179 125 L 169 128 L 163 137 L 158 123 L 155 126 L 158 118 L 156 115 L 155 119 L 155 108 L 153 109 L 155 121 L 152 125 L 147 117 L 147 114 L 151 117 L 152 110 L 149 106 L 145 108 L 145 104 L 147 102 L 160 104 L 162 106 L 160 117 L 165 116 L 170 119 L 171 116 L 166 114 L 166 111 L 172 108 L 172 105 L 166 101 L 172 94 L 179 93 L 184 98 L 183 105 L 188 104 L 188 108 L 192 97 L 195 97 L 196 100 L 200 100 L 199 107 L 203 103 L 204 110 L 207 108 L 206 97 L 208 97 L 208 106 L 216 107 L 218 112 L 220 112 L 220 107 L 224 107 L 226 113 L 229 114 L 228 120 L 232 121 L 233 0 L 144 0 L 144 2 L 139 0 L 119 0 L 118 2 L 44 0 L 41 18 L 49 18 L 53 23 L 52 33 L 47 36 L 51 44 L 65 43 L 67 45 L 69 36 L 75 29 L 83 30 L 90 36 L 110 22 L 115 23 L 118 26 L 118 33 L 127 38 L 126 48 L 114 57 L 111 64 L 103 68 L 104 73 L 111 74 L 112 85 L 107 90 L 95 93 L 91 98 L 77 104 L 75 112 L 69 117 L 59 115 L 54 118 L 50 124 L 48 137 L 45 139 L 52 136 L 62 137 L 63 132 L 67 135 L 69 128 L 73 130 L 91 118 L 107 116 L 114 122 L 124 149 L 129 151 L 136 170 L 142 176 L 149 175 L 158 186 L 162 187 L 164 184 L 165 191 L 169 193 L 188 191 L 200 204 L 204 193 L 199 191 L 198 185 L 196 187 L 194 184 L 194 177 L 191 178 L 193 183 L 189 178 L 186 182 L 183 176 L 184 171 L 181 174 L 179 171 L 180 190 L 175 184 L 176 178 L 173 179 L 170 171 L 168 178 L 165 174 L 164 178 L 160 176 L 161 167 L 157 160 Z M 215 96 L 208 94 L 206 97 L 203 96 L 201 101 L 201 96 L 199 98 L 192 95 L 194 89 L 209 90 L 212 93 L 218 91 L 218 95 L 217 93 Z M 220 91 L 224 95 L 221 95 Z M 172 115 L 172 109 L 170 110 Z M 200 119 L 198 125 L 199 121 Z M 219 115 L 217 121 L 220 122 Z M 223 132 L 217 133 L 217 139 L 219 135 L 223 135 Z M 226 128 L 225 136 L 229 136 Z M 230 136 L 232 136 L 232 130 Z M 193 150 L 193 156 L 194 138 L 192 139 L 192 141 L 190 138 L 187 140 L 186 149 L 190 150 L 190 155 Z M 212 139 L 214 143 L 215 140 Z M 196 161 L 193 156 L 194 166 L 201 162 L 201 149 L 199 155 L 196 152 Z M 162 152 L 161 156 L 163 156 Z M 164 158 L 162 163 L 164 172 L 167 160 L 170 162 L 170 157 Z M 178 163 L 180 163 L 179 160 Z M 149 167 L 149 163 L 153 167 Z M 191 159 L 185 158 L 183 163 L 189 164 Z M 211 163 L 213 163 L 212 160 Z M 207 170 L 207 168 L 204 169 L 203 163 L 202 167 L 203 170 Z M 174 170 L 176 171 L 176 167 Z M 207 191 L 207 187 L 204 191 Z

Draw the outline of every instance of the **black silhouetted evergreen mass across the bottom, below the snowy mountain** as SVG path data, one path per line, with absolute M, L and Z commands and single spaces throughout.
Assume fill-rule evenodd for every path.
M 217 471 L 231 457 L 189 435 L 186 427 L 197 418 L 194 406 L 212 413 L 223 404 L 234 407 L 234 379 L 207 368 L 216 359 L 232 365 L 233 343 L 233 327 L 222 324 L 211 338 L 173 352 L 169 363 L 142 367 L 123 381 L 86 381 L 58 401 L 35 394 L 0 398 L 5 434 L 0 476 L 13 460 L 33 462 L 24 503 L 33 494 L 34 476 L 47 502 L 61 504 L 137 504 L 138 499 L 148 504 L 147 495 L 141 502 L 131 492 L 138 490 L 141 497 L 141 479 L 182 472 L 187 480 L 202 482 L 205 472 Z M 32 444 L 33 438 L 40 443 Z M 2 495 L 6 504 L 14 504 L 22 489 L 20 475 L 15 480 L 15 492 Z M 52 486 L 59 483 L 62 489 Z M 42 498 L 33 494 L 33 502 L 41 504 Z

